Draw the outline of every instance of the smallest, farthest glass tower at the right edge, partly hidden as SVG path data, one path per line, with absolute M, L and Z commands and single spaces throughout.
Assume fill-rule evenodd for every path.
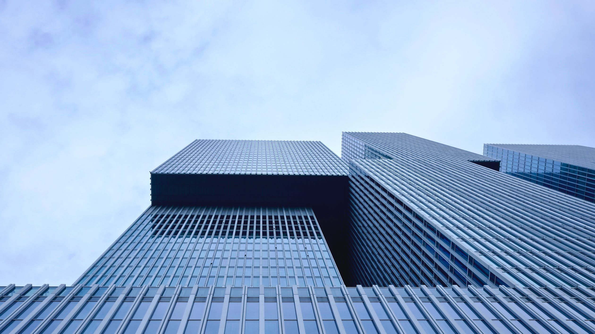
M 595 148 L 580 145 L 484 144 L 500 171 L 595 203 Z

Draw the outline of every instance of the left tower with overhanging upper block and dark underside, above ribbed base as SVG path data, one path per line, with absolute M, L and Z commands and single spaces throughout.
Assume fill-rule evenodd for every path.
M 320 141 L 195 140 L 151 172 L 153 205 L 77 283 L 339 286 L 312 207 L 336 224 L 346 183 Z

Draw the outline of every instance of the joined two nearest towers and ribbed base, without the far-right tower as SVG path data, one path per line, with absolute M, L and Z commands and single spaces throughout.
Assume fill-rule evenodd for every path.
M 595 205 L 499 168 L 401 133 L 196 140 L 74 285 L 0 286 L 0 334 L 595 332 Z

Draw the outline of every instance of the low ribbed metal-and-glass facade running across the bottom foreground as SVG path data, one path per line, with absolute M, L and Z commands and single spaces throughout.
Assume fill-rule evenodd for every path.
M 593 333 L 569 288 L 0 287 L 0 333 Z

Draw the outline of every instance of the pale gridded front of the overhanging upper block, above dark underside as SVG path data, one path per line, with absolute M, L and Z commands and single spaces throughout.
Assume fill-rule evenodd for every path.
M 347 175 L 320 141 L 195 140 L 153 174 Z

